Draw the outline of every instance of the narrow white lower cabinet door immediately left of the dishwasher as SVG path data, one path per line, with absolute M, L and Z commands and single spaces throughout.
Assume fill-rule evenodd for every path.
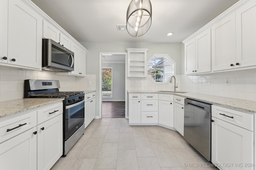
M 184 106 L 174 103 L 174 128 L 184 135 Z

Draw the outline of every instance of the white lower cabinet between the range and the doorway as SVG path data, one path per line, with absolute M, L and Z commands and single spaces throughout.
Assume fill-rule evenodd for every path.
M 84 125 L 85 128 L 92 122 L 95 118 L 95 96 L 96 92 L 85 94 L 84 103 Z

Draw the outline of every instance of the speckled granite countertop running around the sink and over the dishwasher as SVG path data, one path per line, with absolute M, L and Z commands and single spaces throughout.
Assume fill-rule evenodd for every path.
M 214 96 L 209 94 L 200 94 L 200 93 L 168 93 L 168 92 L 157 92 L 157 91 L 136 91 L 130 90 L 128 93 L 162 93 L 162 94 L 175 94 L 176 96 L 190 98 L 193 100 L 198 100 L 201 102 L 206 102 L 218 106 L 228 107 L 231 109 L 236 109 L 240 111 L 245 111 L 248 113 L 256 113 L 256 101 L 252 100 L 242 100 L 236 98 L 228 98 L 222 96 Z

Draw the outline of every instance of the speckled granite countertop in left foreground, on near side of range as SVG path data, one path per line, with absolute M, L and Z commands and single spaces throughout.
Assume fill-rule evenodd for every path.
M 64 98 L 24 98 L 0 102 L 0 118 L 62 100 Z

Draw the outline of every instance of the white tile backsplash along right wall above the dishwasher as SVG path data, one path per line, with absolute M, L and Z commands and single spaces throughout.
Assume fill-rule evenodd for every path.
M 256 69 L 182 75 L 180 81 L 182 91 L 256 100 Z

